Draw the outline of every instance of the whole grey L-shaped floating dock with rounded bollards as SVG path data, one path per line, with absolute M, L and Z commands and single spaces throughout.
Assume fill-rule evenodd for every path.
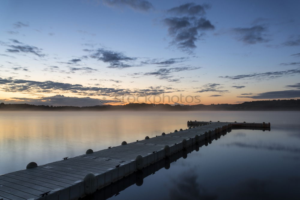
M 0 176 L 0 200 L 78 199 L 230 128 L 269 129 L 270 123 L 188 121 L 187 126 L 41 166 L 29 163 L 27 169 Z

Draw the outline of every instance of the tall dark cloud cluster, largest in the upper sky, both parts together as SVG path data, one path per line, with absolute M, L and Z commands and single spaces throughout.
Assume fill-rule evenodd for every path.
M 214 25 L 203 16 L 208 8 L 208 4 L 187 3 L 167 10 L 167 14 L 171 16 L 162 21 L 172 37 L 170 44 L 192 53 L 197 47 L 196 41 L 204 35 L 204 31 L 214 29 Z

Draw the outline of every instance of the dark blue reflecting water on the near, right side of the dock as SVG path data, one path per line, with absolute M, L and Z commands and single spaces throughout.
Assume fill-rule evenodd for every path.
M 111 199 L 299 199 L 297 131 L 232 130 Z

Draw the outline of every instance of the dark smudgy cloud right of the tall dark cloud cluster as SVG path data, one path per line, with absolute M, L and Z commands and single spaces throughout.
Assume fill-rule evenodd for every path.
M 238 40 L 247 44 L 256 44 L 268 42 L 267 34 L 268 29 L 264 25 L 255 25 L 250 28 L 234 28 L 233 31 L 238 35 Z

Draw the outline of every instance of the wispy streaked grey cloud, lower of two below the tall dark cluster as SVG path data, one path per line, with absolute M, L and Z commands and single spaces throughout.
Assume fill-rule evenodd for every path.
M 171 68 L 161 68 L 158 70 L 155 70 L 153 72 L 147 72 L 144 73 L 143 75 L 145 76 L 157 76 L 158 79 L 164 79 L 167 80 L 168 82 L 179 82 L 179 79 L 173 79 L 173 75 L 171 75 L 174 72 L 180 72 L 180 71 L 190 71 L 190 70 L 197 70 L 200 69 L 201 67 L 171 67 Z M 138 74 L 135 74 L 138 75 Z

